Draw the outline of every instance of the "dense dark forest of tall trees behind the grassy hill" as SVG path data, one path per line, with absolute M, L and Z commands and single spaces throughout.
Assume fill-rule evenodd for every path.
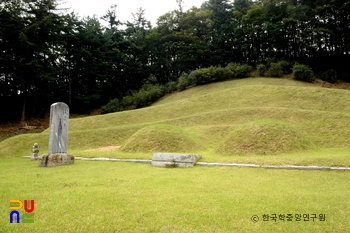
M 88 112 L 147 83 L 196 69 L 274 61 L 334 70 L 350 81 L 350 0 L 208 0 L 120 22 L 117 5 L 79 18 L 60 0 L 0 1 L 0 123 L 42 116 L 53 102 Z

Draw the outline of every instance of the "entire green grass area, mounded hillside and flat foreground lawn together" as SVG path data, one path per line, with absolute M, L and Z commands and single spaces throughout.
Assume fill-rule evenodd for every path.
M 68 152 L 151 159 L 152 151 L 183 151 L 201 153 L 202 161 L 350 166 L 348 93 L 267 78 L 198 86 L 148 108 L 70 119 Z M 349 172 L 162 169 L 83 160 L 45 169 L 20 157 L 30 155 L 34 142 L 46 153 L 48 130 L 0 142 L 0 199 L 7 202 L 0 205 L 7 215 L 0 219 L 0 232 L 350 228 L 344 218 L 350 214 Z M 34 223 L 9 223 L 8 203 L 17 199 L 35 200 Z M 283 217 L 287 214 L 292 221 Z M 301 221 L 296 220 L 299 214 Z

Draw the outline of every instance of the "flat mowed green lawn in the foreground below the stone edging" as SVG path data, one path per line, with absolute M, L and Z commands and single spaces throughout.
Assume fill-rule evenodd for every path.
M 0 232 L 348 232 L 350 173 L 0 160 Z M 10 224 L 10 200 L 35 200 Z M 21 211 L 23 213 L 23 210 Z M 292 221 L 263 215 L 292 214 Z M 296 221 L 296 214 L 316 214 Z M 326 221 L 319 215 L 325 214 Z M 252 222 L 257 215 L 260 220 Z

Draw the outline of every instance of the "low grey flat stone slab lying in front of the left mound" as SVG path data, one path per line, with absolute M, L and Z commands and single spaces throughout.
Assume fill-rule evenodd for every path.
M 155 152 L 152 155 L 152 166 L 156 167 L 193 167 L 201 155 Z

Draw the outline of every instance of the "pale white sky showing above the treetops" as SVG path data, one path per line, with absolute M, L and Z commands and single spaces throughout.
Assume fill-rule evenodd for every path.
M 98 17 L 104 15 L 113 4 L 117 5 L 117 15 L 119 20 L 125 22 L 132 21 L 132 14 L 137 8 L 145 9 L 145 18 L 151 21 L 153 27 L 159 16 L 164 15 L 168 11 L 178 8 L 176 0 L 66 0 L 60 8 L 70 7 L 69 10 L 74 10 L 80 17 L 93 16 Z M 188 10 L 192 6 L 200 7 L 206 0 L 184 0 L 185 8 Z

